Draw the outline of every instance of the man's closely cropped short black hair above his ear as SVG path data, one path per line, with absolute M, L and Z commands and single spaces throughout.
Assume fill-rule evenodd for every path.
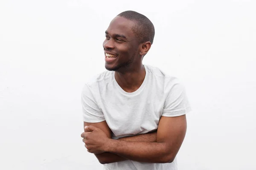
M 135 22 L 132 31 L 137 37 L 139 43 L 150 41 L 151 44 L 153 44 L 154 25 L 145 15 L 135 11 L 124 11 L 117 16 L 124 17 L 127 20 Z

